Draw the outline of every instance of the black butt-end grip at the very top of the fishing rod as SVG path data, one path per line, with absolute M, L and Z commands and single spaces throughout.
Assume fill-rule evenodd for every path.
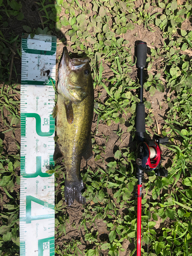
M 146 65 L 146 42 L 138 41 L 136 45 L 137 68 L 144 68 Z

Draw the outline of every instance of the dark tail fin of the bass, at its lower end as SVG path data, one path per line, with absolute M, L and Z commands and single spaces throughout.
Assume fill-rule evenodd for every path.
M 65 198 L 66 203 L 70 206 L 75 200 L 80 203 L 86 203 L 86 198 L 81 195 L 81 191 L 84 189 L 82 178 L 78 181 L 65 180 Z

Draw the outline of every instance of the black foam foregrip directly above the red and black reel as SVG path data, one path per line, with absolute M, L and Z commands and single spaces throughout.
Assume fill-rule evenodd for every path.
M 145 133 L 145 105 L 143 103 L 137 104 L 136 113 L 136 132 Z

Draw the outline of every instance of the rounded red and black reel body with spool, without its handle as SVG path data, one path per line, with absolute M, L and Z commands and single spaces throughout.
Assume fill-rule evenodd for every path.
M 136 164 L 144 171 L 153 170 L 158 167 L 161 154 L 160 146 L 156 142 L 140 142 L 137 146 Z

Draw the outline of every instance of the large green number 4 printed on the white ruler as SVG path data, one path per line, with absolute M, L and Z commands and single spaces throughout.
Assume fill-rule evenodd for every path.
M 32 196 L 26 196 L 26 223 L 31 223 L 31 221 L 43 220 L 43 219 L 51 219 L 55 217 L 55 214 L 46 214 L 46 215 L 36 215 L 31 216 L 31 202 L 35 202 L 37 204 L 43 205 L 45 208 L 54 209 L 53 204 L 49 204 L 46 201 L 42 201 Z

